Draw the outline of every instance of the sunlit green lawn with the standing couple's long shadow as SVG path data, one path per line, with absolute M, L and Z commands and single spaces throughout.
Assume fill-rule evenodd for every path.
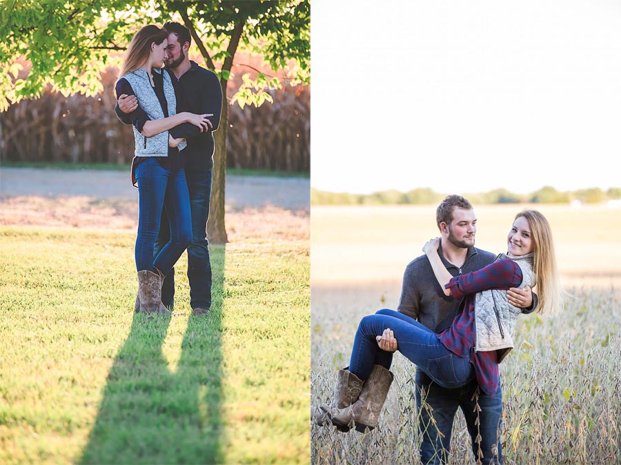
M 133 233 L 0 227 L 0 463 L 308 463 L 308 241 L 210 246 L 135 314 Z

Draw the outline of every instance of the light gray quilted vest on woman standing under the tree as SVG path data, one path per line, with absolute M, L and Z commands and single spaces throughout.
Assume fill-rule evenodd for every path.
M 153 72 L 161 73 L 164 78 L 164 96 L 168 103 L 168 116 L 177 115 L 177 98 L 175 97 L 175 88 L 172 87 L 172 81 L 168 72 L 164 70 L 153 69 Z M 134 93 L 138 99 L 140 108 L 146 112 L 150 119 L 164 118 L 164 111 L 161 109 L 155 90 L 151 87 L 151 81 L 145 70 L 135 70 L 123 76 L 132 86 Z M 168 131 L 160 132 L 152 137 L 141 135 L 136 126 L 132 126 L 134 130 L 134 140 L 136 144 L 135 155 L 137 157 L 168 157 Z M 186 141 L 181 141 L 177 146 L 179 150 L 186 148 Z

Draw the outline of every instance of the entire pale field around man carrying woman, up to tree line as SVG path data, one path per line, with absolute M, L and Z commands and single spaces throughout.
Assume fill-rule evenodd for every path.
M 477 246 L 504 251 L 523 206 L 476 208 Z M 501 366 L 504 463 L 621 463 L 621 212 L 536 206 L 549 218 L 562 281 L 562 312 L 518 320 Z M 396 308 L 402 273 L 437 235 L 433 207 L 313 207 L 311 403 L 331 399 L 359 319 Z M 313 464 L 419 464 L 413 366 L 401 355 L 395 382 L 367 435 L 311 426 Z M 463 417 L 451 463 L 473 464 Z

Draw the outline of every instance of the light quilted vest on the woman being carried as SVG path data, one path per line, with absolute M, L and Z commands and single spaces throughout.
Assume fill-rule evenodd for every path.
M 535 284 L 533 273 L 533 253 L 520 257 L 508 257 L 501 253 L 496 260 L 511 259 L 522 270 L 522 284 L 531 286 Z M 513 328 L 517 315 L 522 313 L 521 308 L 509 304 L 506 298 L 506 290 L 493 289 L 477 293 L 475 297 L 475 350 L 487 352 L 497 350 L 498 363 L 509 354 L 513 348 Z

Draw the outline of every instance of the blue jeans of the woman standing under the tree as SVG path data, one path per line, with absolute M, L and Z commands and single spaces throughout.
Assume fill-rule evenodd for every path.
M 168 275 L 172 266 L 190 244 L 190 199 L 184 168 L 167 170 L 149 157 L 136 168 L 139 195 L 138 237 L 136 238 L 136 268 L 138 271 L 154 267 Z M 157 254 L 153 253 L 160 230 L 162 211 L 170 219 L 169 239 Z

